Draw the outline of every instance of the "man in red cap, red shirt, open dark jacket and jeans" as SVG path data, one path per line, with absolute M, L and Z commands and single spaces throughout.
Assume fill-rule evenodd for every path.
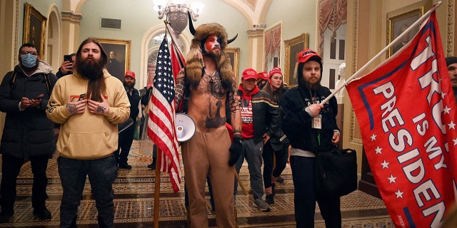
M 238 102 L 241 110 L 241 137 L 243 153 L 235 164 L 239 172 L 243 161 L 248 162 L 253 206 L 262 212 L 270 211 L 270 206 L 263 201 L 263 177 L 261 172 L 263 145 L 279 128 L 279 107 L 269 93 L 256 85 L 257 73 L 252 68 L 243 71 L 238 87 Z M 235 182 L 235 193 L 238 183 Z

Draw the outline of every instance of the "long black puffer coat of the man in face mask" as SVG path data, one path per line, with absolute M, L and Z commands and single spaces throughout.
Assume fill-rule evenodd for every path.
M 14 83 L 11 78 L 16 74 Z M 45 75 L 49 77 L 46 80 Z M 47 81 L 47 83 L 46 83 Z M 26 76 L 19 66 L 6 73 L 0 84 L 0 111 L 6 113 L 0 152 L 19 158 L 51 155 L 56 150 L 54 123 L 46 117 L 46 105 L 57 81 L 51 66 L 39 62 L 39 68 Z M 48 86 L 50 88 L 48 88 Z M 43 93 L 39 108 L 19 110 L 21 98 L 36 98 Z

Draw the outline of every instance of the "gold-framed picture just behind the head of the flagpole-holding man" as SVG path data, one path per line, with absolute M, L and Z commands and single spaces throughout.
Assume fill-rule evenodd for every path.
M 289 88 L 298 84 L 297 56 L 300 51 L 308 48 L 309 33 L 301 33 L 300 36 L 284 41 L 286 51 L 286 63 L 284 64 L 284 82 Z

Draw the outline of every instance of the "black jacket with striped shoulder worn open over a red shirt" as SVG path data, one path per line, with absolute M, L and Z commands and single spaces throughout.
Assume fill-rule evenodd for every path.
M 243 98 L 243 90 L 238 89 L 237 94 L 241 99 Z M 276 102 L 271 99 L 271 95 L 263 90 L 258 90 L 258 93 L 252 95 L 254 142 L 263 140 L 265 133 L 271 137 L 279 128 L 280 110 Z

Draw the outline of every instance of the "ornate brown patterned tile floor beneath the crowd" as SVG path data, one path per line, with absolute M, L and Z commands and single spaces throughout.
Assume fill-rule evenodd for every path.
M 134 141 L 129 155 L 129 164 L 132 170 L 119 170 L 119 176 L 114 183 L 115 192 L 115 227 L 154 227 L 154 183 L 155 171 L 146 168 L 151 163 L 150 143 Z M 51 211 L 52 219 L 40 221 L 32 217 L 31 207 L 31 167 L 27 162 L 22 167 L 18 178 L 15 214 L 9 223 L 0 224 L 0 227 L 59 227 L 59 205 L 61 200 L 61 185 L 57 172 L 56 157 L 49 161 L 49 185 L 47 193 L 49 199 L 47 207 Z M 181 165 L 182 173 L 184 173 Z M 250 189 L 247 164 L 243 164 L 240 179 L 246 189 Z M 276 204 L 271 212 L 260 212 L 252 207 L 251 195 L 243 195 L 238 187 L 236 209 L 238 212 L 239 227 L 295 227 L 293 216 L 293 182 L 291 170 L 287 165 L 281 175 L 284 182 L 277 185 Z M 169 176 L 162 173 L 160 177 L 160 204 L 159 227 L 187 227 L 186 209 L 184 207 L 184 182 L 181 191 L 174 194 L 169 182 Z M 89 180 L 86 182 L 84 196 L 79 207 L 79 227 L 98 227 L 95 202 L 91 197 Z M 207 208 L 211 227 L 216 227 L 215 215 L 211 214 L 209 195 Z M 356 191 L 341 197 L 341 214 L 343 227 L 394 227 L 388 217 L 386 207 L 381 199 Z M 316 226 L 325 227 L 320 211 L 316 206 Z

